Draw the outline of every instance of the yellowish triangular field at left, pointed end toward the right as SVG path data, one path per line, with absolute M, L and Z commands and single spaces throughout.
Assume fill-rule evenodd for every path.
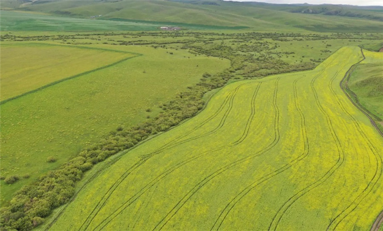
M 113 50 L 5 42 L 1 46 L 1 100 L 133 56 Z

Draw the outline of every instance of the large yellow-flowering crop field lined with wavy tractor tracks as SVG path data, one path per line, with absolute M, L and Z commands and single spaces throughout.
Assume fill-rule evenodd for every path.
M 229 84 L 197 117 L 91 170 L 46 227 L 368 230 L 383 139 L 339 87 L 361 59 L 344 47 L 311 71 Z

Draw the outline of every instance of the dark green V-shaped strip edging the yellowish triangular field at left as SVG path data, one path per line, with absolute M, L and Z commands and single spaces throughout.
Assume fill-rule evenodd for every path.
M 28 43 L 28 44 L 43 44 L 45 45 L 44 43 Z M 59 44 L 48 44 L 48 46 L 61 46 L 61 47 L 76 47 L 76 48 L 79 48 L 79 49 L 96 49 L 96 50 L 103 50 L 103 51 L 110 51 L 110 52 L 118 52 L 118 53 L 125 53 L 125 54 L 133 54 L 135 56 L 132 56 L 132 57 L 126 57 L 126 58 L 123 58 L 123 59 L 120 59 L 114 63 L 110 63 L 110 64 L 107 64 L 105 66 L 101 66 L 101 67 L 97 67 L 95 69 L 92 69 L 92 70 L 89 70 L 89 71 L 85 71 L 85 72 L 82 72 L 82 73 L 79 73 L 79 74 L 76 74 L 76 75 L 72 75 L 72 76 L 69 76 L 67 78 L 63 78 L 63 79 L 59 79 L 57 81 L 54 81 L 54 82 L 51 82 L 51 83 L 48 83 L 44 86 L 41 86 L 41 87 L 38 87 L 36 89 L 33 89 L 33 90 L 30 90 L 30 91 L 27 91 L 27 92 L 24 92 L 22 94 L 19 94 L 19 95 L 16 95 L 16 96 L 13 96 L 11 98 L 7 98 L 5 100 L 2 100 L 0 101 L 0 105 L 3 105 L 4 103 L 7 103 L 9 101 L 12 101 L 14 99 L 17 99 L 17 98 L 20 98 L 20 97 L 23 97 L 25 95 L 28 95 L 28 94 L 32 94 L 34 92 L 37 92 L 39 90 L 43 90 L 47 87 L 50 87 L 50 86 L 53 86 L 53 85 L 56 85 L 58 83 L 61 83 L 61 82 L 64 82 L 64 81 L 67 81 L 67 80 L 71 80 L 71 79 L 74 79 L 74 78 L 77 78 L 77 77 L 80 77 L 82 75 L 86 75 L 86 74 L 90 74 L 90 73 L 93 73 L 93 72 L 96 72 L 96 71 L 99 71 L 99 70 L 102 70 L 102 69 L 106 69 L 108 67 L 111 67 L 111 66 L 114 66 L 116 64 L 119 64 L 121 62 L 124 62 L 126 60 L 129 60 L 129 59 L 133 59 L 133 58 L 137 58 L 137 57 L 140 57 L 140 56 L 143 56 L 143 54 L 139 54 L 139 53 L 133 53 L 133 52 L 121 52 L 121 51 L 116 51 L 116 50 L 109 50 L 109 49 L 98 49 L 98 48 L 88 48 L 88 47 L 83 47 L 83 46 L 74 46 L 74 45 L 59 45 Z

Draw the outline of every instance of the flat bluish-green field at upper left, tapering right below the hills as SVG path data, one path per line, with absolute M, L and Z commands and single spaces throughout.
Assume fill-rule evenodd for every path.
M 35 14 L 34 12 L 1 11 L 2 31 L 159 31 L 161 26 L 177 26 L 193 30 L 237 30 L 246 26 L 214 26 L 178 22 L 157 22 L 126 19 L 90 19 L 74 18 L 67 15 L 57 16 Z

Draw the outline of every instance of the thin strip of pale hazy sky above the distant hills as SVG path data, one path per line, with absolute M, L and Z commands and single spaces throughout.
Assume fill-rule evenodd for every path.
M 225 0 L 227 1 L 227 0 Z M 383 0 L 231 0 L 237 2 L 261 2 L 261 3 L 278 3 L 278 4 L 293 4 L 293 3 L 308 3 L 308 4 L 344 4 L 356 6 L 383 6 Z

